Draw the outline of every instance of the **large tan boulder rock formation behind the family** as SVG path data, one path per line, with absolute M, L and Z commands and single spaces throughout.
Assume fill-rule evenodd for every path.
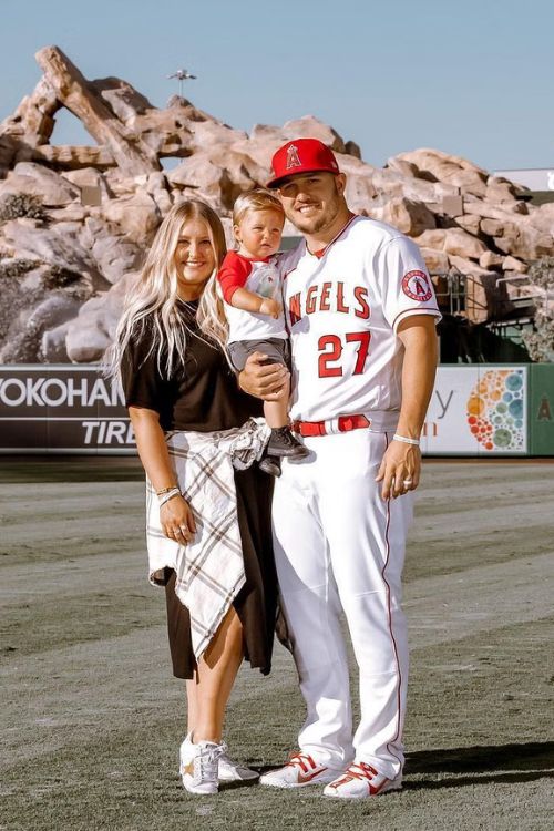
M 483 322 L 541 293 L 525 275 L 554 254 L 554 205 L 530 205 L 524 188 L 464 158 L 416 150 L 373 167 L 310 115 L 247 134 L 183 98 L 162 110 L 120 79 L 88 81 L 55 47 L 37 61 L 43 76 L 0 124 L 1 361 L 98 360 L 171 206 L 205 199 L 229 234 L 236 196 L 264 184 L 273 152 L 296 136 L 335 150 L 355 212 L 417 240 L 441 302 L 462 279 L 460 312 Z M 51 144 L 61 107 L 94 143 Z M 164 171 L 166 158 L 176 163 Z

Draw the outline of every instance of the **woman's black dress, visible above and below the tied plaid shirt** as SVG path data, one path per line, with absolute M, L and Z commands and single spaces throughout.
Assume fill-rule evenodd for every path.
M 196 302 L 178 304 L 178 314 L 187 329 L 186 359 L 171 379 L 160 371 L 155 351 L 148 355 L 152 321 L 124 356 L 122 381 L 126 406 L 160 413 L 164 431 L 228 430 L 261 413 L 261 402 L 239 390 L 222 351 L 199 335 L 196 309 Z M 270 517 L 273 480 L 255 465 L 235 472 L 235 484 L 246 583 L 233 605 L 243 624 L 246 658 L 266 675 L 271 667 L 277 604 Z M 173 673 L 177 678 L 192 678 L 196 660 L 188 611 L 175 594 L 175 572 L 166 570 L 166 578 Z

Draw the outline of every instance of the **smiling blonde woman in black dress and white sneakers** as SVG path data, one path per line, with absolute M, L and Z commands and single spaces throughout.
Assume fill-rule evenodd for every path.
M 187 679 L 188 724 L 181 746 L 181 774 L 192 793 L 215 793 L 218 780 L 257 777 L 226 755 L 223 721 L 244 657 L 264 674 L 270 669 L 277 592 L 270 481 L 255 466 L 237 472 L 234 486 L 230 474 L 232 486 L 224 489 L 230 513 L 235 511 L 236 492 L 235 524 L 244 585 L 232 604 L 229 601 L 225 614 L 218 609 L 220 617 L 214 619 L 220 623 L 214 627 L 207 648 L 198 647 L 204 649 L 202 657 L 195 657 L 198 650 L 193 642 L 199 625 L 193 618 L 191 626 L 194 608 L 187 609 L 176 591 L 181 591 L 179 596 L 186 594 L 197 576 L 196 565 L 181 578 L 176 574 L 181 566 L 175 563 L 186 564 L 193 548 L 199 551 L 196 563 L 201 563 L 202 577 L 204 552 L 198 545 L 212 517 L 206 515 L 204 490 L 194 497 L 196 502 L 182 495 L 183 490 L 192 491 L 192 483 L 198 482 L 193 463 L 199 456 L 191 448 L 196 441 L 195 447 L 203 452 L 216 453 L 204 465 L 204 472 L 209 470 L 207 486 L 219 482 L 216 462 L 222 459 L 217 453 L 222 455 L 227 437 L 237 432 L 234 429 L 260 412 L 259 403 L 238 389 L 222 349 L 226 332 L 215 274 L 225 253 L 223 227 L 212 208 L 197 201 L 174 206 L 156 234 L 141 279 L 127 301 L 113 356 L 113 365 L 121 370 L 146 472 L 148 526 L 156 525 L 154 530 L 148 527 L 148 546 L 152 544 L 155 550 L 154 566 L 153 552 L 148 551 L 151 581 L 165 584 L 173 671 L 177 678 Z M 177 447 L 179 438 L 182 443 Z M 228 461 L 227 451 L 228 447 Z M 191 476 L 188 485 L 183 485 L 183 470 Z M 203 589 L 202 579 L 196 585 Z M 239 585 L 237 578 L 236 586 Z M 208 613 L 214 597 L 207 598 Z

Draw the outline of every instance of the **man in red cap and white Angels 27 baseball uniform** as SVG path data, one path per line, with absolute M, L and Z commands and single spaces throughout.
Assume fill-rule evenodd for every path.
M 401 571 L 437 366 L 440 317 L 414 243 L 353 215 L 346 176 L 315 138 L 287 142 L 268 187 L 304 240 L 284 255 L 293 429 L 309 456 L 285 460 L 275 555 L 307 718 L 299 751 L 264 784 L 325 783 L 325 796 L 401 787 L 408 676 Z M 250 358 L 244 389 L 278 394 L 283 369 Z M 352 739 L 346 616 L 360 674 Z

